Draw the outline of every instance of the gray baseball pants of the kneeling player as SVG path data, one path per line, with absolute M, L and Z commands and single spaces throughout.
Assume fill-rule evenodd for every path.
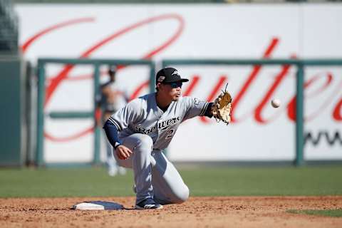
M 122 140 L 133 155 L 128 160 L 118 159 L 116 152 L 114 156 L 120 166 L 133 168 L 136 203 L 148 197 L 160 204 L 182 203 L 189 198 L 189 188 L 167 157 L 153 150 L 150 136 L 136 133 Z

